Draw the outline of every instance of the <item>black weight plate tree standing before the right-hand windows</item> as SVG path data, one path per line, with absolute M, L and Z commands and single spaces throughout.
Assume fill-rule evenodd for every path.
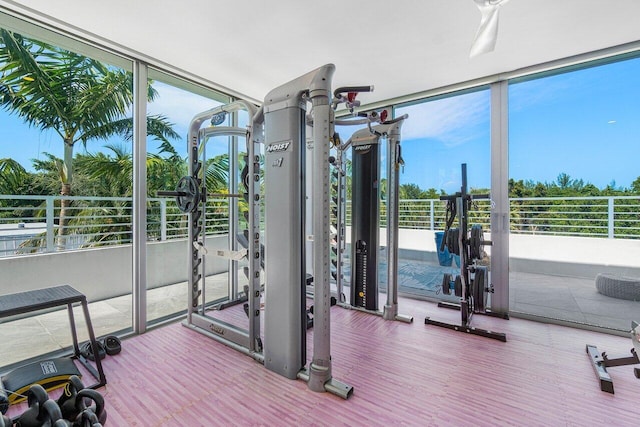
M 471 326 L 471 319 L 474 314 L 485 314 L 503 319 L 509 318 L 508 314 L 494 313 L 486 308 L 487 297 L 488 294 L 493 293 L 493 286 L 489 283 L 488 269 L 478 265 L 477 261 L 482 258 L 484 245 L 490 245 L 491 242 L 484 240 L 480 225 L 472 226 L 469 231 L 469 210 L 474 200 L 488 198 L 489 195 L 487 194 L 469 194 L 467 190 L 466 163 L 462 164 L 462 187 L 460 192 L 440 197 L 440 200 L 446 200 L 447 211 L 445 235 L 439 250 L 443 252 L 446 247 L 450 253 L 460 256 L 460 274 L 455 278 L 451 274 L 445 274 L 442 280 L 442 291 L 449 295 L 453 289 L 455 295 L 460 298 L 460 303 L 440 302 L 438 307 L 460 310 L 462 321 L 460 325 L 454 325 L 426 317 L 424 323 L 506 342 L 507 336 L 502 332 Z M 456 217 L 458 218 L 459 228 L 452 228 Z

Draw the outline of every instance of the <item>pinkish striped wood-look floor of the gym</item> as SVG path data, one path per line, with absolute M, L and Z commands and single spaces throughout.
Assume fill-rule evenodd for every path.
M 633 367 L 610 369 L 611 395 L 600 391 L 585 353 L 589 343 L 628 355 L 630 339 L 474 318 L 475 326 L 505 332 L 502 343 L 425 325 L 425 315 L 459 321 L 435 304 L 401 300 L 400 312 L 414 323 L 332 308 L 333 376 L 355 389 L 346 401 L 178 323 L 125 340 L 122 353 L 103 362 L 107 425 L 640 425 Z

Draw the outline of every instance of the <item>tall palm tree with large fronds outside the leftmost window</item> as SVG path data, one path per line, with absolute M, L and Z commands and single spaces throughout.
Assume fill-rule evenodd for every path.
M 157 92 L 148 86 L 148 100 Z M 42 131 L 53 130 L 64 145 L 56 163 L 60 194 L 73 184 L 76 143 L 121 135 L 132 138 L 133 76 L 124 70 L 0 29 L 0 106 Z M 147 132 L 159 139 L 177 138 L 162 116 L 147 117 Z M 68 199 L 60 204 L 58 245 L 64 246 Z

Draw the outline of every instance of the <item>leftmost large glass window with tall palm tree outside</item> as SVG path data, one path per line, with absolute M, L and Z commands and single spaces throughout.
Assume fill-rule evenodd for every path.
M 0 294 L 69 284 L 101 336 L 131 328 L 132 64 L 68 42 L 0 15 Z M 2 365 L 71 344 L 66 310 L 0 328 Z

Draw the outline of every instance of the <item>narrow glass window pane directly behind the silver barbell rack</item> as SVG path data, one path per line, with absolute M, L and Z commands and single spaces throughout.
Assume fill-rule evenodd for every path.
M 188 174 L 187 134 L 194 116 L 227 103 L 229 98 L 160 71 L 150 70 L 149 76 L 155 95 L 148 104 L 148 114 L 154 120 L 170 123 L 172 130 L 166 138 L 150 136 L 147 141 L 147 320 L 153 322 L 186 311 L 188 304 L 188 216 L 178 209 L 175 197 L 157 197 L 157 191 L 173 190 L 180 178 Z M 231 116 L 227 117 L 223 125 L 230 125 L 231 120 Z M 210 124 L 204 123 L 203 126 Z M 207 192 L 226 192 L 229 138 L 214 138 L 206 143 L 206 157 Z M 229 200 L 208 198 L 209 249 L 228 246 Z M 213 250 L 210 252 L 214 253 Z M 207 289 L 206 296 L 207 300 L 212 300 L 219 297 L 221 291 L 226 291 L 228 268 L 221 258 L 212 256 L 209 261 L 212 277 L 208 283 L 212 283 L 215 289 Z

